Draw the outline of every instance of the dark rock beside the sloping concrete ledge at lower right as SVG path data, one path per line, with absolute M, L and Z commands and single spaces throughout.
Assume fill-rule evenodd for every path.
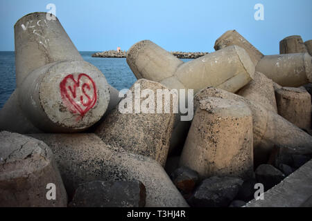
M 285 178 L 284 173 L 281 173 L 281 171 L 270 164 L 262 164 L 258 166 L 255 173 L 257 181 L 263 184 L 265 191 L 271 189 L 276 184 L 279 184 L 279 182 Z

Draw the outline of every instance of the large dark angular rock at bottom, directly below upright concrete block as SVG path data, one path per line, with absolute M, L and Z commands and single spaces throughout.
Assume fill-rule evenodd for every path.
M 191 206 L 226 207 L 236 197 L 243 180 L 236 177 L 209 177 L 189 199 Z

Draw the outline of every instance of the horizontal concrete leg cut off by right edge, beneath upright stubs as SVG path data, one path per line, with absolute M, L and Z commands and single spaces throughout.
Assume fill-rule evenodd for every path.
M 308 53 L 267 55 L 258 62 L 256 71 L 281 86 L 298 87 L 312 82 L 312 57 Z

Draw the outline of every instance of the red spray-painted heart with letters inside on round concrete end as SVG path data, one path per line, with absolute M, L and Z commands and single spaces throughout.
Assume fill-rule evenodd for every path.
M 81 81 L 81 78 L 87 79 L 87 83 Z M 80 84 L 81 83 L 81 84 Z M 86 93 L 86 89 L 92 92 L 92 96 Z M 80 92 L 80 100 L 76 100 L 77 94 Z M 60 82 L 60 93 L 62 96 L 62 101 L 73 113 L 80 113 L 83 117 L 91 108 L 96 104 L 96 84 L 93 79 L 84 73 L 78 75 L 77 81 L 73 78 L 73 75 L 67 75 Z M 83 97 L 87 98 L 87 102 L 84 102 Z

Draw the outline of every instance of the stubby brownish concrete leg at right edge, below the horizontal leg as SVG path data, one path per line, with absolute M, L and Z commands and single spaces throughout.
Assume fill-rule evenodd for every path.
M 311 129 L 311 95 L 302 88 L 275 91 L 279 115 L 299 128 Z

